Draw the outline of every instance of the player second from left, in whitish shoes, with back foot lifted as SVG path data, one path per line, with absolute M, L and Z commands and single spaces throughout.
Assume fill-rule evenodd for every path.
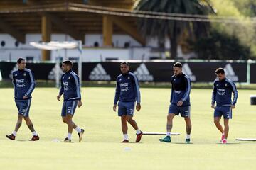
M 72 67 L 73 63 L 70 60 L 63 61 L 61 68 L 65 73 L 61 77 L 60 93 L 57 96 L 57 100 L 60 101 L 60 97 L 64 93 L 61 116 L 63 122 L 68 125 L 68 136 L 65 137 L 64 142 L 71 142 L 73 128 L 78 132 L 79 142 L 81 142 L 85 130 L 80 129 L 72 120 L 75 108 L 82 106 L 79 77 L 73 72 Z

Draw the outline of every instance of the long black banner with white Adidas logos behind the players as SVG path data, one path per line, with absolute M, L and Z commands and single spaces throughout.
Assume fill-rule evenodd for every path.
M 187 74 L 193 82 L 211 82 L 216 79 L 215 69 L 223 67 L 228 79 L 235 82 L 247 81 L 247 64 L 246 63 L 229 63 L 229 62 L 184 62 L 183 73 Z M 173 75 L 174 62 L 134 62 L 129 63 L 131 72 L 137 75 L 139 81 L 156 81 L 169 82 Z M 55 64 L 53 63 L 28 63 L 27 68 L 31 69 L 36 79 L 50 80 L 55 79 L 56 74 L 63 74 L 60 70 L 56 73 Z M 82 80 L 83 81 L 115 81 L 121 74 L 119 62 L 87 62 L 82 63 Z M 77 64 L 73 66 L 77 71 Z M 17 69 L 16 63 L 0 62 L 1 75 L 3 79 L 10 79 L 11 72 Z M 256 64 L 251 64 L 252 83 L 256 83 Z

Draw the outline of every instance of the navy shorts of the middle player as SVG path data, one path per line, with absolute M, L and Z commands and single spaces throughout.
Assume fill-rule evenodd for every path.
M 135 102 L 134 101 L 119 101 L 118 102 L 118 116 L 122 115 L 134 115 L 134 106 Z

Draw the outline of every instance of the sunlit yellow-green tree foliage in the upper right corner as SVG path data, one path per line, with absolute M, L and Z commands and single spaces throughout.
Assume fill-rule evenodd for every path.
M 235 23 L 211 23 L 211 32 L 218 32 L 223 37 L 233 37 L 239 40 L 239 44 L 250 48 L 250 55 L 246 58 L 256 58 L 256 25 L 253 21 L 253 6 L 255 0 L 211 0 L 218 11 L 218 16 L 233 16 L 237 18 Z M 256 13 L 256 11 L 255 11 Z M 218 36 L 219 37 L 219 36 Z M 228 41 L 230 42 L 230 41 Z M 202 48 L 203 50 L 203 48 Z M 227 56 L 225 56 L 227 57 Z

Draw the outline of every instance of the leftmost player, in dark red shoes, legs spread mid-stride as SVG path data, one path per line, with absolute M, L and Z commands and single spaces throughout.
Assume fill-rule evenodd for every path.
M 39 140 L 38 133 L 33 128 L 33 123 L 29 118 L 29 109 L 31 106 L 31 94 L 35 89 L 36 81 L 33 76 L 33 72 L 30 69 L 26 69 L 26 60 L 19 58 L 17 60 L 18 70 L 12 72 L 13 84 L 14 84 L 14 98 L 18 108 L 18 120 L 11 135 L 6 135 L 10 140 L 15 140 L 18 129 L 21 127 L 22 119 L 24 118 L 26 125 L 31 130 L 33 137 L 31 141 Z

